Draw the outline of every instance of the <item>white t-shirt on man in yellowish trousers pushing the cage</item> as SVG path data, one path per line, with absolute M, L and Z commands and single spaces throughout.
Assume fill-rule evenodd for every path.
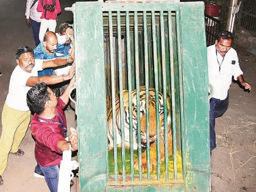
M 27 91 L 31 87 L 26 86 L 26 82 L 29 77 L 37 77 L 37 71 L 42 70 L 42 64 L 43 60 L 35 59 L 35 66 L 31 73 L 21 69 L 19 65 L 15 67 L 10 77 L 9 92 L 5 100 L 9 107 L 22 112 L 29 111 L 29 107 L 27 107 Z

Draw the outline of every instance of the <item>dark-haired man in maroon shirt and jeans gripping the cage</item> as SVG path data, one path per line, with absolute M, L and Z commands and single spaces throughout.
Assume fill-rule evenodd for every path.
M 38 165 L 35 172 L 43 172 L 50 191 L 58 190 L 59 165 L 62 152 L 77 150 L 77 132 L 71 132 L 70 142 L 66 137 L 66 116 L 63 108 L 69 100 L 69 90 L 74 85 L 74 77 L 68 87 L 56 98 L 54 92 L 44 82 L 34 85 L 27 92 L 27 105 L 35 112 L 31 121 L 31 132 L 35 138 L 35 159 Z

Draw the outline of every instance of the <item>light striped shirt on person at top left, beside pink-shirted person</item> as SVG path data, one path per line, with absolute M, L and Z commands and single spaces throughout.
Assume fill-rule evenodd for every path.
M 42 13 L 41 12 L 38 12 L 37 11 L 37 5 L 38 5 L 38 2 L 40 0 L 38 0 L 34 5 L 33 7 L 30 9 L 32 3 L 36 1 L 36 0 L 27 0 L 27 4 L 26 4 L 26 12 L 25 12 L 25 16 L 26 16 L 26 19 L 28 20 L 29 18 L 31 18 L 32 20 L 34 21 L 37 21 L 37 22 L 41 22 L 41 15 Z

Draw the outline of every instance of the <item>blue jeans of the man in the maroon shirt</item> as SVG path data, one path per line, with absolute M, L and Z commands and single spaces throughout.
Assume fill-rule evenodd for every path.
M 49 187 L 51 192 L 58 191 L 58 183 L 59 183 L 59 171 L 60 168 L 58 165 L 55 166 L 40 166 L 41 172 L 43 172 L 44 179 Z M 37 169 L 37 167 L 36 167 Z

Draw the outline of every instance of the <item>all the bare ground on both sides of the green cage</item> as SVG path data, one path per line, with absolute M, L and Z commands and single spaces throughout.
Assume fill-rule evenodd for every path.
M 69 7 L 73 1 L 62 0 L 63 7 Z M 25 23 L 26 0 L 8 0 L 0 2 L 0 112 L 8 93 L 10 75 L 16 66 L 15 51 L 21 45 L 34 48 L 32 30 Z M 71 21 L 73 14 L 65 12 L 58 17 L 58 26 L 64 21 Z M 237 84 L 230 87 L 230 105 L 227 112 L 216 121 L 218 147 L 211 158 L 212 191 L 256 191 L 256 57 L 246 49 L 237 49 L 240 66 L 247 82 L 252 84 L 252 91 L 247 93 Z M 66 112 L 68 127 L 74 126 L 74 112 Z M 2 125 L 0 124 L 0 132 Z M 34 177 L 34 140 L 30 130 L 21 143 L 25 151 L 23 157 L 9 156 L 7 169 L 2 175 L 4 185 L 0 191 L 49 191 L 44 179 Z M 75 191 L 75 186 L 72 187 Z M 200 191 L 204 192 L 204 191 Z

